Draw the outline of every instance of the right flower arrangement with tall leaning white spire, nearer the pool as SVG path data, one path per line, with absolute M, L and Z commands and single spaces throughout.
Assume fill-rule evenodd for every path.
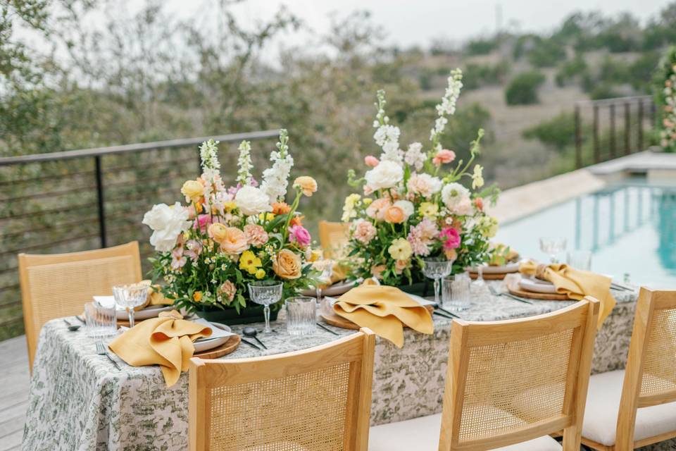
M 406 152 L 399 148 L 400 130 L 385 114 L 384 92 L 377 92 L 373 137 L 382 154 L 380 159 L 365 157 L 370 169 L 363 178 L 350 171 L 349 183 L 361 186 L 363 194 L 350 194 L 343 207 L 342 221 L 351 223 L 349 256 L 356 257 L 356 276 L 404 285 L 423 279 L 425 257 L 454 259 L 455 272 L 490 257 L 489 238 L 497 221 L 485 213 L 484 198 L 494 201 L 498 190 L 477 191 L 484 185 L 483 168 L 472 164 L 483 130 L 471 143 L 466 162 L 456 161 L 455 152 L 442 147 L 463 86 L 461 70 L 453 70 L 448 81 L 427 149 L 420 142 L 409 144 Z

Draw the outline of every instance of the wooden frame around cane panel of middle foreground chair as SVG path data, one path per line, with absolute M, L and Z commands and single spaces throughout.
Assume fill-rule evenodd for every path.
M 491 450 L 562 430 L 563 450 L 580 450 L 584 404 L 587 399 L 598 316 L 599 302 L 592 297 L 585 297 L 564 309 L 525 319 L 487 322 L 453 320 L 439 450 Z M 459 433 L 470 347 L 529 340 L 570 329 L 573 333 L 561 415 L 515 431 L 461 443 Z

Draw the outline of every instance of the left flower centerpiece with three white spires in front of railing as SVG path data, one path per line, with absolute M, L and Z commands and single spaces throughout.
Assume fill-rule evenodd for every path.
M 160 290 L 177 307 L 225 322 L 259 321 L 262 309 L 251 303 L 248 283 L 281 281 L 282 298 L 313 284 L 311 237 L 297 209 L 317 183 L 296 178 L 294 200 L 284 202 L 294 164 L 287 143 L 287 131 L 281 130 L 270 154 L 273 165 L 263 171 L 259 186 L 251 175 L 251 144 L 242 141 L 237 185 L 225 187 L 218 142 L 204 142 L 203 173 L 181 188 L 186 204 L 158 204 L 145 214 L 143 223 L 153 230 L 150 242 L 158 252 L 151 259 L 154 280 L 163 279 Z

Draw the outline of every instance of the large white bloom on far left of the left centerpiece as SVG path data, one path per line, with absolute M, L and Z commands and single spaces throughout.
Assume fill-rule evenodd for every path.
M 190 226 L 188 209 L 176 202 L 173 206 L 167 204 L 154 205 L 143 216 L 143 223 L 153 229 L 150 244 L 158 252 L 169 252 L 176 245 L 178 235 Z

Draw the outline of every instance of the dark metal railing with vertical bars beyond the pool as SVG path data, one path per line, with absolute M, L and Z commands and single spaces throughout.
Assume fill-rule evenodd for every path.
M 583 168 L 645 150 L 654 124 L 655 104 L 650 96 L 577 101 L 575 166 Z

